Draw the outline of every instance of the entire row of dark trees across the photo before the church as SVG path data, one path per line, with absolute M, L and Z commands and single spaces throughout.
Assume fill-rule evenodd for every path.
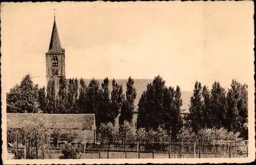
M 7 112 L 34 113 L 41 110 L 44 113 L 59 114 L 93 113 L 99 127 L 101 123 L 114 124 L 121 111 L 119 123 L 123 124 L 125 120 L 131 123 L 137 96 L 131 77 L 127 81 L 125 94 L 122 85 L 115 79 L 112 80 L 113 90 L 110 91 L 108 78 L 101 85 L 95 79 L 86 85 L 83 79 L 78 82 L 74 78 L 69 81 L 61 78 L 57 97 L 54 84 L 54 81 L 49 81 L 47 89 L 39 88 L 33 84 L 31 75 L 26 75 L 20 85 L 14 86 L 7 93 Z M 243 137 L 248 138 L 247 85 L 232 80 L 231 88 L 226 91 L 220 82 L 214 82 L 209 90 L 197 81 L 190 99 L 190 114 L 185 120 L 181 118 L 181 106 L 180 87 L 166 87 L 162 77 L 156 76 L 140 96 L 137 129 L 150 131 L 161 126 L 175 140 L 183 126 L 195 134 L 201 129 L 215 127 L 241 132 Z

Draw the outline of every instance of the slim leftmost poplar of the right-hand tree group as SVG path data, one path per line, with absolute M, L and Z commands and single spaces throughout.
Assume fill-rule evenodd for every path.
M 190 98 L 189 118 L 191 120 L 192 130 L 197 134 L 204 127 L 202 112 L 202 86 L 201 82 L 196 81 L 193 96 Z

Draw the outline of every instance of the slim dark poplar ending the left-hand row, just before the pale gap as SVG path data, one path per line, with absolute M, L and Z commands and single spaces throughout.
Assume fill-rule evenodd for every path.
M 126 93 L 125 93 L 125 100 L 121 107 L 121 115 L 119 118 L 119 123 L 123 124 L 123 122 L 126 120 L 129 123 L 131 123 L 133 119 L 133 112 L 134 112 L 134 101 L 136 99 L 136 89 L 134 87 L 134 80 L 129 77 L 127 83 L 126 83 Z

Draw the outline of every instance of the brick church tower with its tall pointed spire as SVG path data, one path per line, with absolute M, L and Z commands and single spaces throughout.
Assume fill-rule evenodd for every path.
M 61 77 L 65 78 L 65 49 L 61 48 L 54 16 L 50 46 L 46 53 L 46 79 L 47 84 L 50 80 L 55 82 L 55 94 Z

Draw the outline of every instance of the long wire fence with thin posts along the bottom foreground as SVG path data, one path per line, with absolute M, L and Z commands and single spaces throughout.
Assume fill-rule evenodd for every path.
M 62 146 L 69 143 L 52 141 L 38 148 L 38 158 L 58 159 Z M 212 142 L 108 142 L 73 140 L 70 142 L 77 159 L 112 158 L 239 158 L 248 157 L 247 143 Z M 16 148 L 14 148 L 15 152 Z M 26 151 L 18 147 L 19 151 Z M 33 150 L 33 148 L 31 148 Z M 20 157 L 25 158 L 24 155 Z

